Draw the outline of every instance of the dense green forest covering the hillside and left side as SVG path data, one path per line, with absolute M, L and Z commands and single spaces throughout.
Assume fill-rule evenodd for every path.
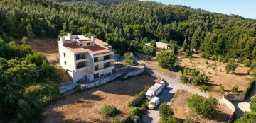
M 54 77 L 47 74 L 45 68 L 55 70 L 26 43 L 17 45 L 13 42 L 24 36 L 48 38 L 67 32 L 95 35 L 112 45 L 117 53 L 137 51 L 151 56 L 156 55 L 155 47 L 144 43 L 169 42 L 183 45 L 187 54 L 195 49 L 202 57 L 237 58 L 241 63 L 246 61 L 247 66 L 256 66 L 256 20 L 151 1 L 123 4 L 118 3 L 127 0 L 100 1 L 100 4 L 97 1 L 100 0 L 60 3 L 50 0 L 0 1 L 0 122 L 11 117 L 18 117 L 21 121 L 33 120 L 31 115 L 21 112 L 34 111 L 56 100 L 51 98 L 42 102 L 41 98 L 28 98 L 26 92 L 33 90 L 29 89 L 31 86 L 35 89 L 39 89 L 35 86 L 45 84 L 46 89 L 52 87 L 48 85 L 52 85 L 49 81 L 54 81 Z M 43 75 L 48 79 L 43 79 Z M 51 94 L 45 93 L 42 97 L 44 95 Z M 38 103 L 31 100 L 38 100 Z M 36 116 L 41 114 L 33 113 Z

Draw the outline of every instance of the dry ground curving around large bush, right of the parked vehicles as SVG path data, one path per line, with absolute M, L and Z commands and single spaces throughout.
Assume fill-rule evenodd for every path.
M 193 93 L 186 90 L 178 90 L 175 97 L 170 102 L 170 107 L 174 110 L 174 117 L 178 119 L 178 122 L 183 122 L 185 119 L 191 118 L 198 122 L 228 122 L 232 114 L 224 104 L 218 105 L 217 112 L 213 119 L 203 119 L 198 116 L 196 112 L 189 109 L 186 100 L 191 97 Z

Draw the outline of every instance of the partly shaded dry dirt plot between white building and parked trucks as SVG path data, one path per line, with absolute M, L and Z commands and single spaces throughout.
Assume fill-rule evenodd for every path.
M 143 74 L 68 95 L 67 98 L 46 108 L 44 122 L 110 122 L 111 119 L 105 119 L 99 113 L 103 105 L 116 106 L 120 115 L 124 116 L 131 110 L 127 104 L 132 101 L 134 95 L 144 90 L 144 86 L 159 81 L 160 78 Z

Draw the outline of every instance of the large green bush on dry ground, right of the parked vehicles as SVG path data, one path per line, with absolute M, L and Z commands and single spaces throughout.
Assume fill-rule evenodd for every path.
M 188 107 L 197 112 L 199 115 L 203 115 L 205 118 L 212 118 L 215 114 L 215 108 L 218 105 L 218 100 L 210 96 L 209 98 L 203 98 L 200 95 L 192 95 L 188 98 Z

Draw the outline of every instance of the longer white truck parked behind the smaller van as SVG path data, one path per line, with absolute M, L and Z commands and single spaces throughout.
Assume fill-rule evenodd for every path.
M 163 90 L 165 86 L 164 81 L 161 81 L 160 83 L 155 83 L 154 86 L 151 86 L 147 91 L 146 91 L 146 98 L 151 100 L 154 98 L 156 95 L 158 95 L 161 90 Z

